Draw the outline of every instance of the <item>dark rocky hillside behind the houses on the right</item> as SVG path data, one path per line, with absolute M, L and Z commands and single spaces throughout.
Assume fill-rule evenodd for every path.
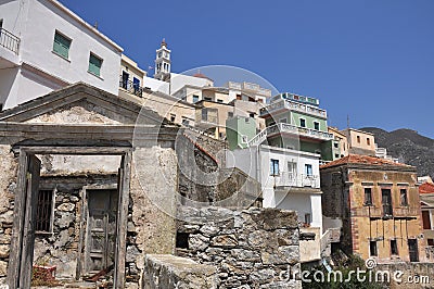
M 375 142 L 380 148 L 386 148 L 387 154 L 418 167 L 419 176 L 434 177 L 434 139 L 405 128 L 390 133 L 376 127 L 365 127 L 360 130 L 374 134 Z

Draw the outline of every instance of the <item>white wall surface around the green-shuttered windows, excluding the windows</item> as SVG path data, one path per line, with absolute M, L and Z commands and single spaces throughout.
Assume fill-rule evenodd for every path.
M 63 80 L 64 85 L 85 81 L 117 93 L 122 48 L 89 28 L 88 24 L 79 21 L 71 11 L 56 7 L 56 3 L 59 2 L 52 0 L 0 0 L 3 27 L 21 38 L 20 62 L 36 67 L 40 72 L 39 78 L 47 78 L 18 79 L 18 85 L 26 87 L 20 87 L 17 92 L 25 96 L 8 96 L 14 99 L 8 100 L 5 108 L 51 91 L 53 85 L 43 86 L 52 83 L 52 77 Z M 68 60 L 52 52 L 56 29 L 72 39 Z M 100 77 L 88 73 L 90 52 L 103 60 Z M 26 78 L 26 72 L 23 70 L 17 77 Z

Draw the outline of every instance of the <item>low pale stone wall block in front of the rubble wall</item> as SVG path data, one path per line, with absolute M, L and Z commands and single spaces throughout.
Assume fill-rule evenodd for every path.
M 146 255 L 143 289 L 217 289 L 217 268 L 174 255 Z

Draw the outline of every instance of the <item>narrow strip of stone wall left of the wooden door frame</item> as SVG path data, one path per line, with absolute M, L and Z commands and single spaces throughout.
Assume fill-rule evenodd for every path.
M 0 146 L 0 284 L 3 284 L 8 274 L 18 162 L 10 146 Z

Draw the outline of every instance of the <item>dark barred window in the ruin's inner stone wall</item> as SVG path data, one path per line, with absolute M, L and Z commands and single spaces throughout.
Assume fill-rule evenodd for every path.
M 53 212 L 53 191 L 40 190 L 38 205 L 36 206 L 36 231 L 51 233 L 51 218 Z

